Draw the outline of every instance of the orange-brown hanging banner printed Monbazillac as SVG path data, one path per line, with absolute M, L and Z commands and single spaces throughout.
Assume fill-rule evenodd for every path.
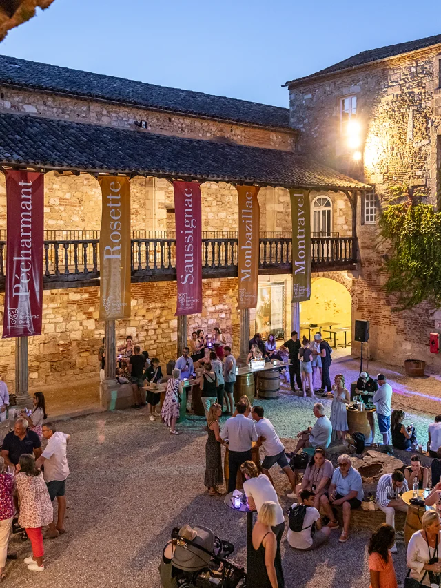
M 238 308 L 256 308 L 259 279 L 258 187 L 236 186 L 239 198 Z

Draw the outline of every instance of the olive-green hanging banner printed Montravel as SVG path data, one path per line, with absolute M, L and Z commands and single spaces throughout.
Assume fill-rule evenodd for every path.
M 309 192 L 290 189 L 292 218 L 292 300 L 311 297 L 311 209 Z

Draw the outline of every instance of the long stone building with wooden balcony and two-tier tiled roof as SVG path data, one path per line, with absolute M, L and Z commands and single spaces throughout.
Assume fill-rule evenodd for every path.
M 30 386 L 97 379 L 99 174 L 131 182 L 132 316 L 117 322 L 118 344 L 134 335 L 151 357 L 176 357 L 173 178 L 203 182 L 205 306 L 188 317 L 190 332 L 220 326 L 238 353 L 238 183 L 260 186 L 259 279 L 265 292 L 277 286 L 280 336 L 291 330 L 288 188 L 310 193 L 314 278 L 350 290 L 353 211 L 369 186 L 299 154 L 299 136 L 289 109 L 1 56 L 0 165 L 45 172 L 43 333 L 29 338 Z M 3 176 L 0 229 L 4 240 Z M 0 285 L 3 253 L 0 242 Z M 0 342 L 0 375 L 12 387 L 14 346 Z

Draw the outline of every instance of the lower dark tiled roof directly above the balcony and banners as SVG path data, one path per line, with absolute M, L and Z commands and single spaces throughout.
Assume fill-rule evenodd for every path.
M 365 185 L 291 151 L 0 114 L 0 165 L 320 189 Z

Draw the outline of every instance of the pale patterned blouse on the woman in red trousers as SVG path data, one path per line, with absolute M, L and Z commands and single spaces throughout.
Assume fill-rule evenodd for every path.
M 23 529 L 45 527 L 54 520 L 54 509 L 43 474 L 28 476 L 19 472 L 15 476 L 19 496 L 19 525 Z

